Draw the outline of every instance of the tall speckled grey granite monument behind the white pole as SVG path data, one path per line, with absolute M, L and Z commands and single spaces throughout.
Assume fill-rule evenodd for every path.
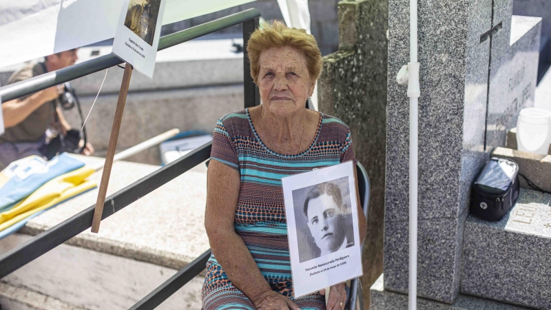
M 541 19 L 512 16 L 512 0 L 419 0 L 418 10 L 419 309 L 519 309 L 460 291 L 535 307 L 478 291 L 488 283 L 481 278 L 468 287 L 463 266 L 480 254 L 467 240 L 484 238 L 466 222 L 472 180 L 505 145 L 519 110 L 534 104 Z M 408 20 L 409 1 L 389 0 L 384 278 L 371 309 L 407 309 L 409 103 L 395 76 L 409 59 Z

